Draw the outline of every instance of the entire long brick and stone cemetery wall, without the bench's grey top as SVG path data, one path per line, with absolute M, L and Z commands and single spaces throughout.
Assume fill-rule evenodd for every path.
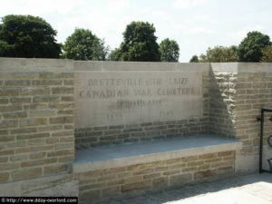
M 99 200 L 257 172 L 256 118 L 271 104 L 272 63 L 0 58 L 0 196 Z M 266 169 L 270 117 L 264 128 Z M 141 162 L 140 156 L 130 165 L 106 160 L 100 169 L 92 166 L 101 164 L 97 155 L 84 155 L 96 147 L 205 134 L 236 139 L 240 146 L 224 151 L 215 145 L 204 153 L 211 150 L 207 145 L 174 159 L 157 152 L 154 160 Z M 94 161 L 78 161 L 79 151 Z M 74 171 L 75 165 L 83 170 Z

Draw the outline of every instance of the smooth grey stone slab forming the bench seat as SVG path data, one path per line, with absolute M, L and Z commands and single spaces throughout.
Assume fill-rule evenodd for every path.
M 234 151 L 241 147 L 241 141 L 212 134 L 199 134 L 164 141 L 102 146 L 77 150 L 73 161 L 73 173 L 123 167 L 158 160 L 170 160 L 219 151 Z

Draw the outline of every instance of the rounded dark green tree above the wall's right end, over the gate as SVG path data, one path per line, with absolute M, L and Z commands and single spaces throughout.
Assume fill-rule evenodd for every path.
M 241 62 L 260 62 L 262 51 L 271 44 L 267 34 L 257 31 L 249 32 L 238 45 L 238 56 Z

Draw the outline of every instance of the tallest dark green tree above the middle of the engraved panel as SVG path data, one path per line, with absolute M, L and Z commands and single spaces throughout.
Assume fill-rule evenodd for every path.
M 160 61 L 159 44 L 153 24 L 131 22 L 123 33 L 120 48 L 111 54 L 118 61 L 158 62 Z

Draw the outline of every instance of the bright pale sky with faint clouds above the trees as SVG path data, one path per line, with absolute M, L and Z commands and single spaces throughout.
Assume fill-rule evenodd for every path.
M 113 50 L 131 21 L 156 28 L 180 45 L 180 63 L 217 45 L 238 45 L 249 31 L 272 38 L 272 0 L 0 0 L 0 17 L 34 15 L 44 18 L 64 43 L 74 28 L 89 29 Z

